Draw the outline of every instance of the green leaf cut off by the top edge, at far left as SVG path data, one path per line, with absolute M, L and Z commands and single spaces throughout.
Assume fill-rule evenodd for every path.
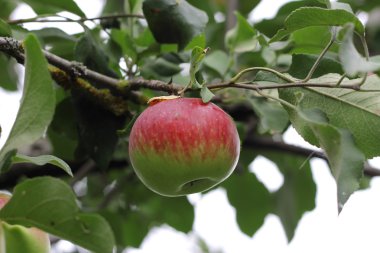
M 78 7 L 74 0 L 25 0 L 37 14 L 51 14 L 61 11 L 68 11 L 85 17 L 85 14 Z

